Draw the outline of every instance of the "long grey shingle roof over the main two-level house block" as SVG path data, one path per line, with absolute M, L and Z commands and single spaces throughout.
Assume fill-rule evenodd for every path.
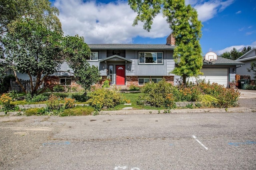
M 88 44 L 91 50 L 96 49 L 136 49 L 136 50 L 155 50 L 168 49 L 173 50 L 175 46 L 166 44 Z

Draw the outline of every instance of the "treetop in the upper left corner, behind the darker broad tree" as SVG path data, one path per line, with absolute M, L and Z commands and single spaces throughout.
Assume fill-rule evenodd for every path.
M 58 8 L 49 0 L 0 0 L 0 35 L 12 31 L 20 18 L 31 18 L 54 31 L 62 31 Z

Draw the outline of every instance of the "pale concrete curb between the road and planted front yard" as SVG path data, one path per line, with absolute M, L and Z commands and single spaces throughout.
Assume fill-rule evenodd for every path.
M 169 113 L 224 113 L 224 112 L 250 112 L 256 111 L 245 107 L 231 107 L 231 108 L 213 108 L 213 109 L 173 109 L 173 110 L 116 110 L 116 111 L 100 111 L 100 115 L 135 115 L 135 114 L 169 114 Z M 23 115 L 24 111 L 11 111 L 7 115 Z M 6 115 L 3 111 L 0 115 Z

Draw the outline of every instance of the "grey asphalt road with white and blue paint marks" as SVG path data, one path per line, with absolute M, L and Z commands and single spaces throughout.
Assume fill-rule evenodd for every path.
M 0 169 L 256 169 L 256 115 L 0 117 Z

